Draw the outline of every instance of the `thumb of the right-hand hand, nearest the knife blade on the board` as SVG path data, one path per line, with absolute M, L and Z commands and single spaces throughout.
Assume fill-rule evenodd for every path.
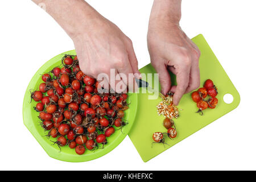
M 157 63 L 157 62 L 156 62 Z M 161 63 L 159 61 L 159 63 Z M 156 72 L 159 74 L 159 82 L 161 85 L 161 93 L 166 95 L 171 89 L 171 77 L 167 71 L 167 67 L 164 64 L 154 65 Z

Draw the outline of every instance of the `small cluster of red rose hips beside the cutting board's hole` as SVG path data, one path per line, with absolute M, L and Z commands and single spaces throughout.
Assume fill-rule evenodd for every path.
M 208 79 L 204 82 L 204 87 L 199 88 L 197 91 L 191 94 L 192 100 L 197 103 L 199 110 L 197 113 L 203 115 L 203 110 L 214 109 L 218 104 L 218 99 L 216 98 L 218 94 L 216 86 L 213 81 Z M 209 96 L 208 100 L 206 99 Z

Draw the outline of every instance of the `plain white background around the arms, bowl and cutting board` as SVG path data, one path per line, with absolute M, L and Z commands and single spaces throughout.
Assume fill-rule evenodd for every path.
M 148 64 L 152 0 L 88 2 L 133 40 L 139 68 Z M 255 1 L 183 1 L 181 27 L 189 38 L 205 36 L 240 92 L 241 102 L 236 110 L 147 163 L 129 137 L 90 162 L 61 162 L 46 154 L 23 125 L 23 96 L 35 72 L 53 56 L 73 49 L 73 42 L 31 1 L 1 1 L 1 7 L 0 169 L 256 169 Z

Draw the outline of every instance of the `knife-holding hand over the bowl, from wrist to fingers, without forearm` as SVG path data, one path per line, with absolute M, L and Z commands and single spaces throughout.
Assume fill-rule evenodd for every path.
M 78 33 L 72 38 L 81 71 L 94 78 L 100 73 L 106 73 L 110 78 L 110 69 L 115 69 L 115 76 L 124 73 L 127 78 L 123 79 L 123 76 L 119 75 L 122 77 L 122 83 L 126 85 L 125 88 L 118 88 L 119 81 L 110 84 L 109 80 L 109 85 L 115 92 L 125 92 L 131 84 L 135 88 L 137 85 L 134 76 L 139 78 L 141 73 L 138 70 L 133 43 L 114 23 L 100 14 L 95 17 L 89 27 L 85 28 L 81 24 L 80 30 L 77 30 Z M 128 79 L 129 73 L 138 75 Z

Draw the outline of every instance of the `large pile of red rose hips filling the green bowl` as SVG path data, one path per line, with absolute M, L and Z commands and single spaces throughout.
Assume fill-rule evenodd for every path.
M 128 109 L 126 93 L 99 93 L 98 81 L 82 73 L 77 56 L 65 55 L 62 67 L 42 75 L 39 90 L 31 93 L 38 102 L 40 124 L 59 147 L 68 145 L 81 155 L 104 147 L 108 137 L 121 129 Z

